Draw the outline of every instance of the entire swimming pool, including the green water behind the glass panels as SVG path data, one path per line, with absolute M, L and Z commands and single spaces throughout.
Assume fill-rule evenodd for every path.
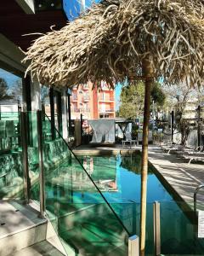
M 88 175 L 110 203 L 128 236 L 139 236 L 140 154 L 81 156 Z M 46 206 L 57 215 L 59 236 L 84 255 L 127 255 L 122 226 L 74 158 L 64 160 L 45 175 Z M 204 255 L 193 219 L 156 177 L 149 166 L 147 189 L 146 255 L 154 255 L 153 203 L 161 204 L 161 253 Z M 114 250 L 112 249 L 114 247 Z

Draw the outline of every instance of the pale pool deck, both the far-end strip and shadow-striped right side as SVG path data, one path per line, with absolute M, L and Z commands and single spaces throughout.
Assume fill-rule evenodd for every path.
M 141 146 L 136 148 L 122 148 L 122 145 L 116 144 L 115 147 L 90 147 L 88 145 L 80 146 L 74 149 L 78 155 L 101 155 L 101 154 L 129 154 L 141 151 Z M 160 178 L 173 195 L 186 203 L 189 209 L 193 209 L 193 195 L 195 188 L 204 183 L 204 164 L 191 163 L 188 165 L 183 159 L 179 159 L 176 154 L 164 153 L 157 145 L 149 145 L 149 160 L 156 167 L 156 175 Z M 203 189 L 204 190 L 204 189 Z M 202 209 L 204 194 L 197 195 L 198 209 Z

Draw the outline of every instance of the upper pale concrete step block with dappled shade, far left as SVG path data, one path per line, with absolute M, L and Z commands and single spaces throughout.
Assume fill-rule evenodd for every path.
M 47 219 L 38 218 L 39 212 L 19 201 L 0 202 L 0 255 L 5 256 L 44 241 Z

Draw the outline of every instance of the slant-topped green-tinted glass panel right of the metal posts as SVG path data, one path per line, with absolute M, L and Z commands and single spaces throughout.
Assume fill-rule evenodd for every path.
M 84 255 L 127 253 L 128 230 L 99 193 L 65 141 L 43 141 L 46 210 L 67 250 Z M 110 254 L 111 255 L 111 254 Z

